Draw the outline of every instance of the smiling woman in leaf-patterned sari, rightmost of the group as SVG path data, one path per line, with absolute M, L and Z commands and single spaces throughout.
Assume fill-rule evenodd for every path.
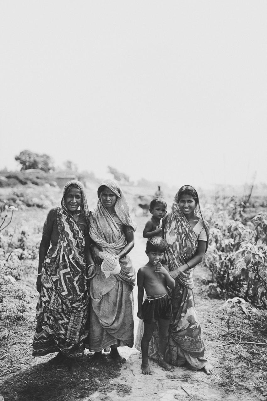
M 165 360 L 178 367 L 187 365 L 193 370 L 204 369 L 210 375 L 213 367 L 204 356 L 205 346 L 193 293 L 193 269 L 207 251 L 209 224 L 202 216 L 195 188 L 185 185 L 179 189 L 162 227 L 167 243 L 167 263 L 176 284 L 171 294 L 173 318 Z M 149 344 L 149 356 L 154 359 L 158 358 L 158 343 L 159 336 L 155 331 Z

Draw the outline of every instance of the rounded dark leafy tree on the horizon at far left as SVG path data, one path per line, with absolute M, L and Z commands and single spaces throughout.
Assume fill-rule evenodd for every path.
M 30 168 L 49 172 L 54 170 L 54 161 L 47 154 L 38 154 L 30 150 L 22 150 L 15 160 L 21 164 L 20 170 L 29 170 Z

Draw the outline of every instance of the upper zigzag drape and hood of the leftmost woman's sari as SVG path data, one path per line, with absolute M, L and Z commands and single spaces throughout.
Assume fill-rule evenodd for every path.
M 85 239 L 80 227 L 69 213 L 64 200 L 69 188 L 75 188 L 75 186 L 81 190 L 81 210 L 84 211 L 88 224 L 89 213 L 84 187 L 79 181 L 68 181 L 64 186 L 61 207 L 57 207 L 58 245 L 53 255 L 47 255 L 44 260 L 45 274 L 53 283 L 53 294 L 51 297 L 50 286 L 48 283 L 45 284 L 47 277 L 44 279 L 41 296 L 43 302 L 50 303 L 50 307 L 54 310 L 58 310 L 58 308 L 62 310 L 62 303 L 72 310 L 82 310 L 88 303 L 85 277 Z

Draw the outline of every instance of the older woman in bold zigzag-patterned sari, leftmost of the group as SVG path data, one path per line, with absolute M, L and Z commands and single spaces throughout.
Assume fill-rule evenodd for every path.
M 72 372 L 79 368 L 76 359 L 84 352 L 87 281 L 95 275 L 88 216 L 83 185 L 67 182 L 61 206 L 51 209 L 46 217 L 39 249 L 36 288 L 40 297 L 32 354 L 58 352 L 50 363 L 64 361 Z

